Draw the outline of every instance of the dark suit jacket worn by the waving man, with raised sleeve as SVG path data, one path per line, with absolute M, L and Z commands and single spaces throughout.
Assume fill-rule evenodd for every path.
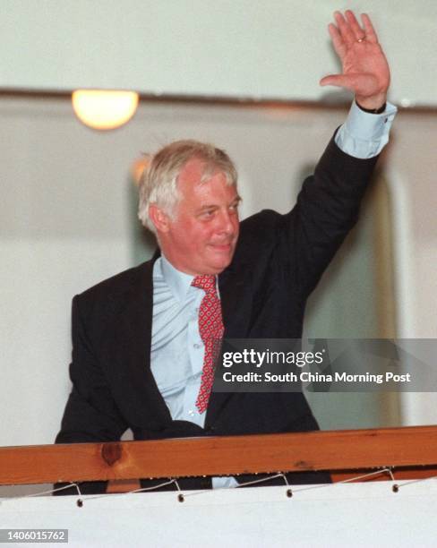
M 225 338 L 301 338 L 307 297 L 356 222 L 375 161 L 332 140 L 293 210 L 241 223 L 218 278 Z M 204 429 L 172 421 L 150 371 L 152 270 L 153 260 L 74 297 L 73 390 L 57 443 L 116 441 L 128 427 L 135 440 L 317 429 L 304 396 L 283 392 L 213 391 Z

